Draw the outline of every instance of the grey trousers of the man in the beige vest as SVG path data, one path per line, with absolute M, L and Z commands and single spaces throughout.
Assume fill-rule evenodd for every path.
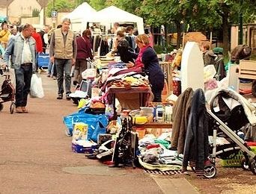
M 71 67 L 72 59 L 55 59 L 55 65 L 57 69 L 57 81 L 58 81 L 58 94 L 64 93 L 63 81 L 65 75 L 65 90 L 66 94 L 70 94 L 71 87 Z

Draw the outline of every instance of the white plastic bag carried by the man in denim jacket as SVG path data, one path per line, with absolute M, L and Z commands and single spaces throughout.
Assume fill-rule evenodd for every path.
M 31 78 L 30 96 L 34 98 L 43 98 L 44 96 L 42 78 L 37 77 L 36 74 L 33 74 Z

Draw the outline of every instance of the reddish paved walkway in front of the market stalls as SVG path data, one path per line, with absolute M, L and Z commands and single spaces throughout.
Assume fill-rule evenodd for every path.
M 62 118 L 76 106 L 56 100 L 56 81 L 40 77 L 45 97 L 29 98 L 29 113 L 11 115 L 10 103 L 4 103 L 0 112 L 1 194 L 196 193 L 183 178 L 154 177 L 141 169 L 109 169 L 73 153 Z

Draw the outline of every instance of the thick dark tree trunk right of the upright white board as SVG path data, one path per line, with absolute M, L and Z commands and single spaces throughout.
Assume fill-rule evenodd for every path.
M 225 57 L 228 57 L 228 50 L 229 50 L 229 37 L 228 37 L 228 30 L 229 30 L 229 24 L 228 24 L 228 15 L 229 10 L 228 6 L 222 6 L 222 30 L 223 30 L 223 54 Z

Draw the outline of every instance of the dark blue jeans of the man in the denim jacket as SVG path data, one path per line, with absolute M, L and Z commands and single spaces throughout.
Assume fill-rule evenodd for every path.
M 32 77 L 32 64 L 22 65 L 15 69 L 16 78 L 16 107 L 25 107 L 28 101 Z

